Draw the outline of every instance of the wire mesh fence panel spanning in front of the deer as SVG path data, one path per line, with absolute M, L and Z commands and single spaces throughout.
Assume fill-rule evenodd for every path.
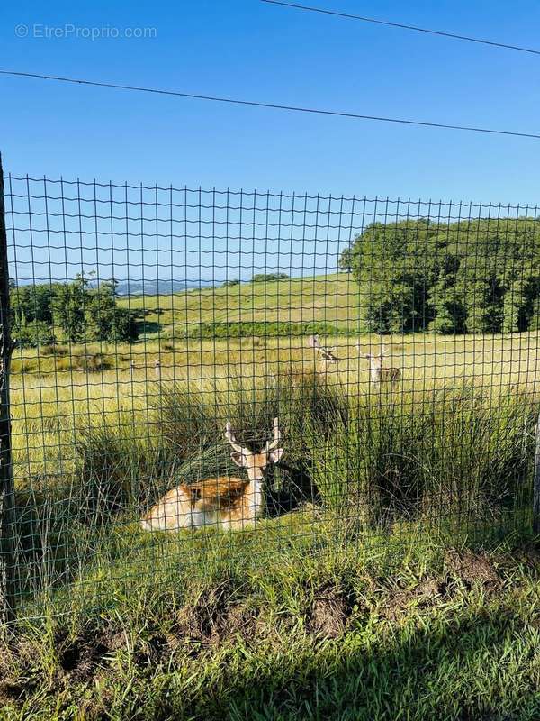
M 4 202 L 20 616 L 530 529 L 536 207 L 11 175 Z

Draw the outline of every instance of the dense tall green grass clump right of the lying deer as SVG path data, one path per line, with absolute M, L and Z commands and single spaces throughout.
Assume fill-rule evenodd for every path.
M 310 429 L 325 505 L 366 526 L 398 518 L 490 522 L 523 507 L 534 461 L 535 400 L 464 387 L 350 397 L 328 437 Z

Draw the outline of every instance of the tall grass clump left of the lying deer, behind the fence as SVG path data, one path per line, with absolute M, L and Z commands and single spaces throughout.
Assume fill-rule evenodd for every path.
M 102 552 L 114 527 L 138 518 L 174 476 L 174 459 L 142 417 L 87 424 L 73 439 L 74 467 L 33 477 L 16 491 L 19 593 L 67 582 Z

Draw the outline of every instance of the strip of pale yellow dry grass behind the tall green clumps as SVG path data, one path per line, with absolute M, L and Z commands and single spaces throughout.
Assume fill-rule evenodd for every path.
M 325 339 L 335 345 L 340 359 L 329 371 L 330 384 L 351 394 L 373 393 L 367 360 L 356 351 L 356 338 Z M 363 351 L 378 347 L 378 339 L 365 336 Z M 402 388 L 417 393 L 437 387 L 462 386 L 464 381 L 494 398 L 508 388 L 534 392 L 538 382 L 538 333 L 511 336 L 441 337 L 413 335 L 386 337 L 388 362 L 402 370 Z M 103 353 L 112 360 L 110 370 L 85 372 L 81 355 Z M 73 367 L 70 367 L 73 358 Z M 161 385 L 155 360 L 161 360 Z M 135 363 L 132 378 L 130 360 Z M 150 341 L 119 346 L 89 344 L 73 347 L 71 354 L 41 357 L 36 349 L 15 352 L 12 388 L 14 460 L 18 477 L 62 473 L 72 461 L 72 434 L 95 419 L 113 421 L 121 414 L 137 418 L 141 434 L 148 429 L 148 407 L 172 383 L 202 393 L 212 402 L 216 390 L 226 392 L 238 379 L 264 387 L 267 378 L 286 370 L 311 372 L 318 360 L 302 338 L 235 339 L 229 341 Z M 399 395 L 397 396 L 399 399 Z

